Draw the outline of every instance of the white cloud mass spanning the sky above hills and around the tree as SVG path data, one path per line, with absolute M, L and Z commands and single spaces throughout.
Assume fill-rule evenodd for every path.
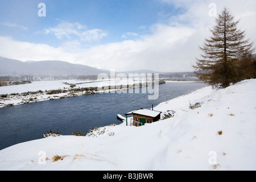
M 152 24 L 147 34 L 125 32 L 121 42 L 82 47 L 84 42 L 98 41 L 108 35 L 99 29 L 88 30 L 80 23 L 60 22 L 56 27 L 46 28 L 45 34 L 53 34 L 63 43 L 57 47 L 46 44 L 19 42 L 0 36 L 0 55 L 19 60 L 63 60 L 92 67 L 129 71 L 152 69 L 162 72 L 193 71 L 199 46 L 210 36 L 209 28 L 215 18 L 209 16 L 209 4 L 214 2 L 217 14 L 226 6 L 236 18 L 241 18 L 242 30 L 247 37 L 256 40 L 256 1 L 174 1 L 159 0 L 167 6 L 183 8 L 177 15 L 168 16 L 164 23 Z M 142 28 L 142 27 L 141 27 Z

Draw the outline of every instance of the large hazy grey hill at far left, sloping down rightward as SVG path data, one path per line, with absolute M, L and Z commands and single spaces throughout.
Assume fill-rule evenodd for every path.
M 0 76 L 21 76 L 30 75 L 42 76 L 63 76 L 63 75 L 98 75 L 108 73 L 101 69 L 81 64 L 71 64 L 65 61 L 28 61 L 23 62 L 14 59 L 0 57 Z

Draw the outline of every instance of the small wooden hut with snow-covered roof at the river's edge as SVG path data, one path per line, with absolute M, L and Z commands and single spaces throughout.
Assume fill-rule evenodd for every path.
M 160 119 L 161 111 L 150 110 L 150 109 L 136 109 L 126 113 L 126 123 L 127 123 L 127 115 L 133 115 L 133 126 L 143 126 L 145 123 L 156 122 Z

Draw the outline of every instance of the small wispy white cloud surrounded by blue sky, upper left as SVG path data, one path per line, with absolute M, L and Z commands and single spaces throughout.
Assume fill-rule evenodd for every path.
M 98 41 L 108 34 L 100 29 L 94 28 L 87 30 L 85 26 L 80 23 L 68 23 L 62 21 L 56 27 L 45 28 L 45 34 L 54 34 L 57 39 L 73 39 L 79 38 L 83 42 Z

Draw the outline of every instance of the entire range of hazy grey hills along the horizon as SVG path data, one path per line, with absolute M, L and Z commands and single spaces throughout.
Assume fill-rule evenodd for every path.
M 105 69 L 97 69 L 82 64 L 72 64 L 65 61 L 19 61 L 14 59 L 8 59 L 0 56 L 0 76 L 32 76 L 32 77 L 56 77 L 56 76 L 72 76 L 77 78 L 78 76 L 97 76 L 100 73 L 107 73 L 110 75 L 110 71 Z M 118 74 L 119 72 L 115 72 Z M 193 72 L 156 72 L 151 70 L 137 70 L 122 72 L 127 76 L 129 73 L 159 73 L 159 77 L 195 77 Z

